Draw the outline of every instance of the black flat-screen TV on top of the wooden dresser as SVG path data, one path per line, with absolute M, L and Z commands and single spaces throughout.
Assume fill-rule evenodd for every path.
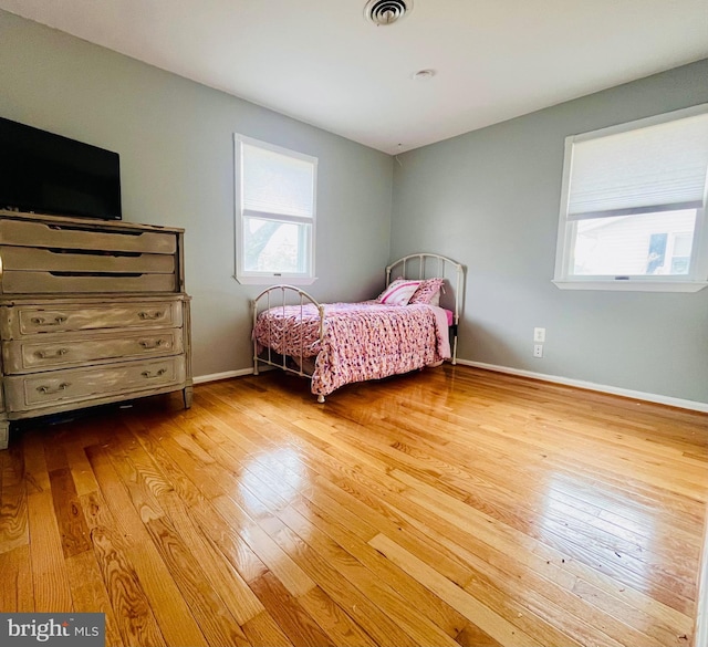
M 0 208 L 121 220 L 118 154 L 0 117 Z

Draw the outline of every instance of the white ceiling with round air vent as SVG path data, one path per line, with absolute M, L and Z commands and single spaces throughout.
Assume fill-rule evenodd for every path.
M 0 0 L 389 154 L 708 58 L 708 0 Z M 418 70 L 434 77 L 414 81 Z

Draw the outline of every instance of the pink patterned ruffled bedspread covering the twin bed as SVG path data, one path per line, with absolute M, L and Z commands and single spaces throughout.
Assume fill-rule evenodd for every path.
M 293 357 L 316 355 L 312 393 L 329 395 L 352 382 L 379 379 L 436 364 L 450 356 L 448 315 L 433 305 L 383 305 L 375 301 L 273 307 L 261 313 L 254 340 Z M 302 314 L 302 316 L 301 316 Z

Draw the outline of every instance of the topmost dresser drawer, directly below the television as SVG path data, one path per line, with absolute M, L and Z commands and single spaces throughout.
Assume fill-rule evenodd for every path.
M 43 247 L 65 250 L 96 250 L 149 252 L 173 254 L 177 250 L 177 237 L 162 231 L 125 231 L 93 223 L 77 225 L 0 219 L 0 240 L 3 244 Z

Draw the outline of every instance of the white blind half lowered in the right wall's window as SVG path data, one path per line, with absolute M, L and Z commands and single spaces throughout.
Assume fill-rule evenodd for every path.
M 702 209 L 708 114 L 572 142 L 569 220 Z

